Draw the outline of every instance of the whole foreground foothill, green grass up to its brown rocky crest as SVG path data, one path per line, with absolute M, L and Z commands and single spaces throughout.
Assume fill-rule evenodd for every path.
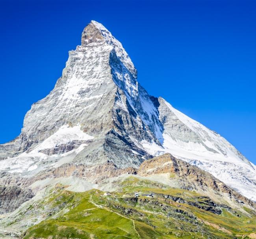
M 137 175 L 87 185 L 86 192 L 74 192 L 74 180 L 62 182 L 33 184 L 42 190 L 0 219 L 1 238 L 233 239 L 256 232 L 255 203 L 170 154 L 143 162 Z

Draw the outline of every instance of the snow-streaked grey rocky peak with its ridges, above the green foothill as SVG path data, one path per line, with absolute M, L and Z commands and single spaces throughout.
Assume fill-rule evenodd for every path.
M 164 153 L 256 200 L 256 166 L 219 134 L 148 95 L 122 44 L 91 21 L 54 89 L 26 113 L 20 135 L 0 145 L 0 184 L 25 190 L 72 177 L 74 187 L 87 188 Z M 39 189 L 20 193 L 13 205 Z

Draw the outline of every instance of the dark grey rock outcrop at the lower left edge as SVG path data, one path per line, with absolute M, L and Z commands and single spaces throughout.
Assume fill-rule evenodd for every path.
M 16 185 L 0 185 L 0 214 L 14 211 L 33 196 L 34 194 L 30 189 Z

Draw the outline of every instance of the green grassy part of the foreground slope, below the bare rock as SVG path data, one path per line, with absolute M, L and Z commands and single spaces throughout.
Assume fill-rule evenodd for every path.
M 135 199 L 134 192 L 153 192 L 155 197 Z M 75 193 L 57 187 L 50 197 L 31 205 L 29 210 L 44 207 L 47 213 L 24 239 L 245 239 L 256 232 L 254 211 L 211 205 L 195 192 L 136 177 L 120 182 L 110 196 L 99 190 Z

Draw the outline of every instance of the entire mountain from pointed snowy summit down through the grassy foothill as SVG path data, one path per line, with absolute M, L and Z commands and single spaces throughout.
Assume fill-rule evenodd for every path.
M 20 135 L 0 145 L 0 175 L 3 238 L 256 238 L 256 166 L 148 95 L 95 21 Z

